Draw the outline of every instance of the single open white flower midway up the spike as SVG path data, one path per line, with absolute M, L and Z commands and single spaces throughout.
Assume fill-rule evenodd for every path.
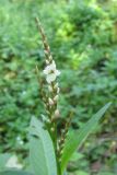
M 56 69 L 56 63 L 52 60 L 50 65 L 48 65 L 45 70 L 44 74 L 46 74 L 46 80 L 48 83 L 51 83 L 56 80 L 56 78 L 60 74 L 60 71 Z

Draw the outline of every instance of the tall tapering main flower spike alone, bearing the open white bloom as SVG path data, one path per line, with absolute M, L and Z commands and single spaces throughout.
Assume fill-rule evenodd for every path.
M 46 112 L 48 115 L 46 125 L 47 125 L 47 129 L 51 135 L 52 141 L 55 142 L 55 135 L 52 135 L 51 132 L 57 133 L 57 119 L 59 118 L 58 98 L 59 98 L 59 91 L 60 91 L 59 84 L 57 82 L 57 77 L 60 75 L 60 71 L 57 70 L 56 62 L 52 59 L 47 38 L 45 36 L 44 30 L 38 19 L 36 19 L 36 22 L 43 38 L 44 52 L 46 57 L 46 61 L 45 61 L 46 66 L 43 73 L 47 82 L 48 93 L 43 92 L 43 95 L 42 95 L 43 101 L 45 103 Z

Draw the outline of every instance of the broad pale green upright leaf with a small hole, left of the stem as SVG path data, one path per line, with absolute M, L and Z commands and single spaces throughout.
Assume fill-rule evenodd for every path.
M 34 117 L 30 130 L 30 161 L 35 175 L 57 175 L 51 138 L 43 124 Z

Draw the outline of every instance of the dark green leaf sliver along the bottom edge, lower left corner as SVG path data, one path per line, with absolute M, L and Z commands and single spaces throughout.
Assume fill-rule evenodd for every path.
M 16 171 L 16 170 L 9 171 L 8 170 L 8 171 L 0 172 L 0 175 L 34 175 L 34 174 L 24 172 L 24 171 Z

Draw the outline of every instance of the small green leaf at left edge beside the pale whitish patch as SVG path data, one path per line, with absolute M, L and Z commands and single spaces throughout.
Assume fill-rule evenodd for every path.
M 11 154 L 4 153 L 0 154 L 0 171 L 5 167 L 7 162 L 9 161 Z

